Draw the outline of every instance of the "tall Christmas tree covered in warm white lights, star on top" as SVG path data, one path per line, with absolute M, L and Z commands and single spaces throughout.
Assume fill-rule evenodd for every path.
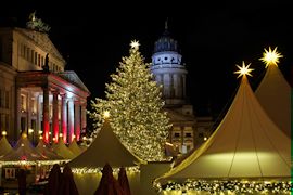
M 111 75 L 112 82 L 105 86 L 105 100 L 91 102 L 90 118 L 99 129 L 102 113 L 109 110 L 115 134 L 129 151 L 148 161 L 163 160 L 171 125 L 163 112 L 161 87 L 152 78 L 150 64 L 144 63 L 138 41 L 130 46 L 130 55 L 123 57 L 116 74 Z

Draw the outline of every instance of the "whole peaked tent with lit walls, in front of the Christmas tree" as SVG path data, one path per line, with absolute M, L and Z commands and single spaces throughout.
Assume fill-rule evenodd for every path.
M 114 173 L 117 173 L 118 168 L 125 167 L 131 194 L 140 194 L 139 164 L 142 160 L 120 143 L 114 134 L 109 119 L 105 119 L 90 146 L 68 162 L 73 169 L 79 194 L 94 194 L 102 176 L 101 170 L 106 162 L 113 168 Z

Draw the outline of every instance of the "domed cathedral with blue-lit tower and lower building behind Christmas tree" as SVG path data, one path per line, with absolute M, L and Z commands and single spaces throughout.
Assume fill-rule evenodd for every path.
M 182 154 L 200 146 L 211 134 L 212 117 L 199 117 L 187 96 L 188 70 L 182 63 L 178 41 L 175 40 L 165 22 L 165 31 L 154 44 L 151 72 L 162 86 L 165 110 L 168 113 L 173 129 L 169 142 Z

